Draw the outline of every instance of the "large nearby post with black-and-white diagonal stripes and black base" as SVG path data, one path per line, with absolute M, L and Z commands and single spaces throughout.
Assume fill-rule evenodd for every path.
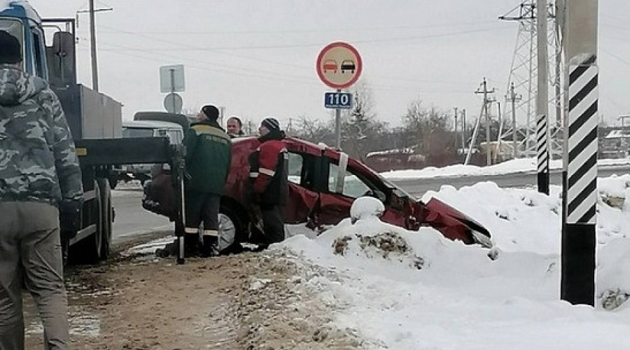
M 561 299 L 595 302 L 598 0 L 566 1 L 568 118 L 565 118 Z M 560 9 L 561 10 L 561 9 Z

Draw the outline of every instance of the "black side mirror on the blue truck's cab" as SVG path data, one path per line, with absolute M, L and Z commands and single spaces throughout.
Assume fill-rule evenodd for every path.
M 48 80 L 53 87 L 76 84 L 74 36 L 67 31 L 57 31 L 52 36 L 52 46 L 46 50 Z

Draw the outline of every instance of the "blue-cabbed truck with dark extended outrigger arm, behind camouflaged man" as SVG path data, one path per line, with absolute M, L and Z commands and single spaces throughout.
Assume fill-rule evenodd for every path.
M 0 0 L 0 30 L 22 44 L 22 69 L 48 80 L 76 144 L 83 174 L 83 207 L 80 229 L 62 239 L 64 259 L 93 263 L 109 257 L 115 218 L 110 182 L 116 177 L 113 168 L 120 165 L 169 164 L 180 199 L 176 232 L 183 231 L 183 146 L 170 144 L 167 137 L 122 138 L 122 104 L 77 83 L 75 20 L 42 19 L 27 1 Z M 52 41 L 46 45 L 48 34 Z

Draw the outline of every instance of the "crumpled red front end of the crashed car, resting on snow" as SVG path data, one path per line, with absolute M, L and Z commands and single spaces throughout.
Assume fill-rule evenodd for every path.
M 435 228 L 442 232 L 444 237 L 459 239 L 465 244 L 481 244 L 486 248 L 492 246 L 490 232 L 470 216 L 437 198 L 431 198 L 423 206 L 425 210 L 423 225 Z

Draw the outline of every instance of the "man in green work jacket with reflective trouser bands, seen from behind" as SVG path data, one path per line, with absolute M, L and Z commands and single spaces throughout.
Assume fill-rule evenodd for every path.
M 223 187 L 228 179 L 232 141 L 218 125 L 219 111 L 204 106 L 199 123 L 186 133 L 186 241 L 199 242 L 203 223 L 202 255 L 209 256 L 218 239 L 218 212 Z M 194 246 L 192 246 L 194 248 Z

